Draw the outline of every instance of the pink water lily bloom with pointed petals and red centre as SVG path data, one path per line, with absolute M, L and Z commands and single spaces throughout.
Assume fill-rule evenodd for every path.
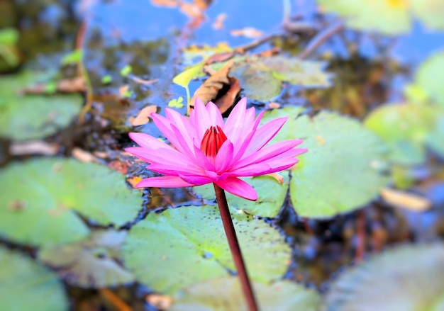
M 169 108 L 166 109 L 167 118 L 152 113 L 155 125 L 174 147 L 147 134 L 129 134 L 140 147 L 125 150 L 150 163 L 147 168 L 151 171 L 166 175 L 143 179 L 137 187 L 216 183 L 236 196 L 256 200 L 255 189 L 239 179 L 240 176 L 259 176 L 288 169 L 299 161 L 296 155 L 307 150 L 294 148 L 302 140 L 266 146 L 287 118 L 278 118 L 257 128 L 264 112 L 255 119 L 255 108 L 246 109 L 246 106 L 247 100 L 243 98 L 226 123 L 214 103 L 205 106 L 199 98 L 189 120 Z

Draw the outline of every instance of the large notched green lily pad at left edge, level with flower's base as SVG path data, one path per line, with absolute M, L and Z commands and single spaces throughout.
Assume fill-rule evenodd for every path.
M 74 212 L 99 225 L 133 220 L 142 199 L 123 176 L 72 159 L 34 159 L 0 170 L 0 234 L 41 246 L 77 242 L 89 234 Z

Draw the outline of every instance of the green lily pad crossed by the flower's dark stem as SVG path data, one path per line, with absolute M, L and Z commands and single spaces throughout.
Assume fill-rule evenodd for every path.
M 284 238 L 263 220 L 231 215 L 250 277 L 262 282 L 280 278 L 291 255 Z M 150 213 L 131 227 L 122 252 L 140 283 L 164 293 L 235 271 L 217 206 Z

